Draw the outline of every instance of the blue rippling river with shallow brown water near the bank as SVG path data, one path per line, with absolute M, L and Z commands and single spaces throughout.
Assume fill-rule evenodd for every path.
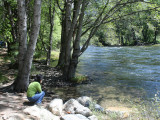
M 61 97 L 86 95 L 105 107 L 150 100 L 160 91 L 160 45 L 90 46 L 80 57 L 77 73 L 89 76 L 92 84 L 55 89 Z

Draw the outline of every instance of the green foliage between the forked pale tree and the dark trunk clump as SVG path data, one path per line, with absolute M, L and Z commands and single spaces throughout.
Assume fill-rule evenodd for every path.
M 38 54 L 41 51 L 41 55 L 35 55 L 36 58 L 44 57 L 46 58 L 47 49 L 49 47 L 49 34 L 50 34 L 50 16 L 49 16 L 49 5 L 52 4 L 52 10 L 54 7 L 54 1 L 49 3 L 48 0 L 42 1 L 42 14 L 41 14 L 41 27 L 40 34 L 37 41 L 36 52 Z M 61 39 L 61 25 L 59 18 L 59 10 L 56 9 L 56 14 L 54 17 L 54 28 L 53 28 L 53 44 L 52 49 L 56 50 L 60 48 L 60 39 Z

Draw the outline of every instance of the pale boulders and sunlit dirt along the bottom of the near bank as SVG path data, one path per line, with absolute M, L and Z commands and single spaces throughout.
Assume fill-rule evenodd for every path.
M 66 102 L 60 98 L 44 98 L 41 106 L 29 103 L 22 93 L 1 93 L 0 99 L 0 120 L 112 120 L 110 114 L 126 119 L 132 112 L 129 109 L 104 109 L 87 96 Z

